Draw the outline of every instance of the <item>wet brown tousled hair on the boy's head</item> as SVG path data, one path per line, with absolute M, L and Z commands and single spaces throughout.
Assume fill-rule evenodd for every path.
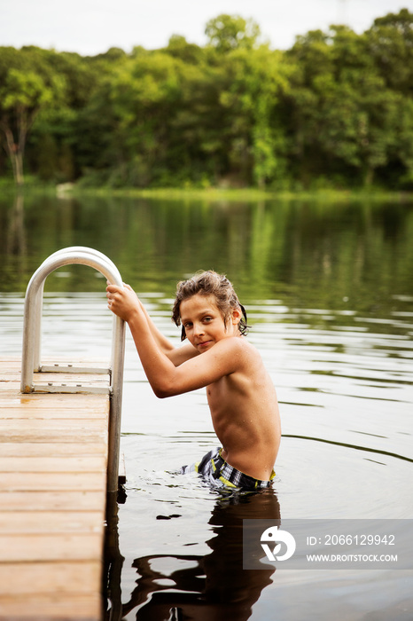
M 244 306 L 239 302 L 238 295 L 232 283 L 223 274 L 216 271 L 199 271 L 191 279 L 181 280 L 176 286 L 175 303 L 172 309 L 172 319 L 176 326 L 181 326 L 181 303 L 192 295 L 214 295 L 216 306 L 222 313 L 223 323 L 226 326 L 233 309 L 241 309 L 243 317 L 238 323 L 241 334 L 246 334 L 248 324 Z M 182 326 L 181 341 L 186 339 L 185 328 Z

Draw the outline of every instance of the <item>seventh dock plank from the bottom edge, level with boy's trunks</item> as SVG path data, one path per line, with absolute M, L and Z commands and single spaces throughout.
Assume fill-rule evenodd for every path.
M 16 446 L 16 444 L 14 444 Z M 2 446 L 3 449 L 3 446 Z M 0 457 L 0 473 L 2 472 L 104 472 L 106 460 L 103 455 L 79 456 L 62 455 L 51 457 L 50 452 L 45 456 L 21 456 L 19 453 L 10 457 Z

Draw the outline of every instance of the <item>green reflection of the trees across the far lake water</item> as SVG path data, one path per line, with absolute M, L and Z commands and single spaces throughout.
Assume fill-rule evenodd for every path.
M 177 278 L 214 267 L 254 300 L 380 318 L 392 295 L 411 295 L 412 236 L 409 203 L 0 199 L 3 291 L 24 290 L 47 255 L 81 245 L 110 256 L 140 291 L 173 291 Z M 82 268 L 53 284 L 98 290 Z

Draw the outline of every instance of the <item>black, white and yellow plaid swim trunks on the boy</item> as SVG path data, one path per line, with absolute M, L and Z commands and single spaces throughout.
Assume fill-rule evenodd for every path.
M 243 472 L 233 468 L 221 457 L 222 448 L 218 447 L 207 452 L 202 460 L 191 466 L 183 466 L 181 474 L 186 475 L 190 472 L 198 472 L 204 476 L 213 487 L 225 487 L 245 491 L 261 490 L 268 487 L 276 473 L 271 473 L 269 481 L 254 479 L 253 476 L 245 475 Z

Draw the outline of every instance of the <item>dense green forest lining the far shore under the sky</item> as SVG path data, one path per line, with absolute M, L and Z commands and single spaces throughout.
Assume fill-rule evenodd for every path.
M 286 51 L 237 15 L 205 32 L 90 57 L 0 47 L 0 181 L 413 190 L 413 13 Z

